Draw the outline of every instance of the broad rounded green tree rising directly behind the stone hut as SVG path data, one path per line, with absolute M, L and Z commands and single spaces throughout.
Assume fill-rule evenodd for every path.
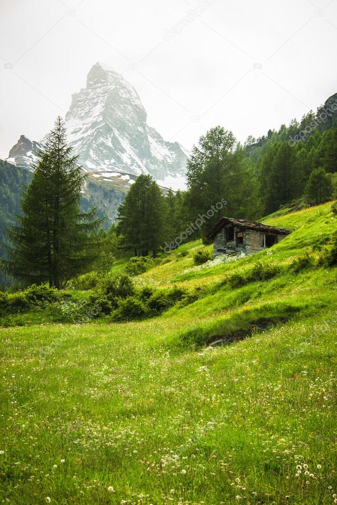
M 186 203 L 189 217 L 201 220 L 207 236 L 221 211 L 242 218 L 260 216 L 258 185 L 243 148 L 221 126 L 200 137 L 187 160 Z

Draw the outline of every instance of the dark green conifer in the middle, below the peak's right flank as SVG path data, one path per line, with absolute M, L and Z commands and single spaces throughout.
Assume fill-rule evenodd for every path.
M 168 240 L 168 205 L 150 175 L 141 174 L 118 209 L 121 247 L 134 256 L 155 257 Z

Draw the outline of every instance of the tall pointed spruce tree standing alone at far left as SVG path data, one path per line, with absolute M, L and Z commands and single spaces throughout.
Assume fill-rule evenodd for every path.
M 89 269 L 99 254 L 96 234 L 102 220 L 95 210 L 79 212 L 80 191 L 85 176 L 67 145 L 60 117 L 39 152 L 33 179 L 23 192 L 22 216 L 10 226 L 9 260 L 1 269 L 26 283 L 49 282 L 63 288 L 74 276 Z

